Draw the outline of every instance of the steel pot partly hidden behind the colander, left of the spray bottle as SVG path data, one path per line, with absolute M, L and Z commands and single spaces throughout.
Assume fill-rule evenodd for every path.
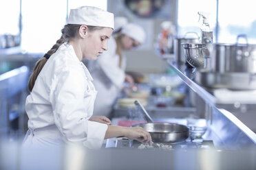
M 194 34 L 193 36 L 191 36 Z M 181 38 L 175 38 L 174 40 L 174 55 L 175 55 L 175 62 L 179 64 L 184 64 L 186 62 L 184 56 L 184 50 L 182 47 L 183 42 L 190 42 L 190 43 L 198 43 L 200 37 L 195 32 L 186 32 L 186 34 Z

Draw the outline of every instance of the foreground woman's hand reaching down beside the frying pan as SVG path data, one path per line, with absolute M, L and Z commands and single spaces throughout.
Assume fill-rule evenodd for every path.
M 128 127 L 125 137 L 135 139 L 141 143 L 149 143 L 149 145 L 152 145 L 153 143 L 149 132 L 144 130 L 142 127 Z

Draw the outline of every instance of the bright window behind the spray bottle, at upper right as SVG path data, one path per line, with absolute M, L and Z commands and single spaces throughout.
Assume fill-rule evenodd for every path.
M 235 43 L 237 35 L 246 34 L 248 43 L 255 44 L 256 14 L 253 2 L 178 0 L 178 36 L 184 36 L 186 32 L 198 32 L 200 35 L 198 12 L 207 12 L 214 42 Z M 244 40 L 239 42 L 244 43 Z

